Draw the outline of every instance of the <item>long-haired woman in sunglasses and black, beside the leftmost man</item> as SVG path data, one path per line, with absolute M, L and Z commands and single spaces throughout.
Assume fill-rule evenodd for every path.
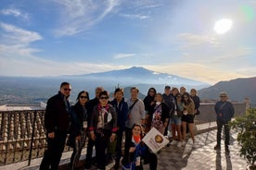
M 80 91 L 76 98 L 77 103 L 71 107 L 71 124 L 70 124 L 70 137 L 67 142 L 73 152 L 70 158 L 70 170 L 78 167 L 79 158 L 85 142 L 85 129 L 86 125 L 86 109 L 85 103 L 89 101 L 89 93 L 87 91 Z

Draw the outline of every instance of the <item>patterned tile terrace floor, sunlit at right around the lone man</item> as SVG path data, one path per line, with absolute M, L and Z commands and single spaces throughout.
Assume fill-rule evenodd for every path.
M 178 148 L 175 145 L 165 147 L 158 154 L 158 170 L 244 170 L 246 168 L 245 159 L 239 156 L 239 146 L 237 145 L 237 133 L 231 131 L 230 154 L 224 152 L 224 140 L 222 140 L 222 150 L 216 152 L 213 150 L 216 144 L 216 129 L 199 133 L 196 136 L 197 148 L 192 149 L 192 140 L 188 139 L 186 146 Z M 82 160 L 84 155 L 82 157 Z M 70 159 L 61 161 L 60 170 L 69 169 Z M 38 161 L 40 163 L 40 160 Z M 81 162 L 83 169 L 84 162 Z M 113 164 L 109 164 L 107 169 L 111 169 Z M 18 167 L 18 166 L 17 166 Z M 2 169 L 2 167 L 0 167 Z M 5 169 L 3 167 L 3 169 Z M 13 169 L 11 167 L 6 169 Z M 24 166 L 15 168 L 22 170 L 39 169 L 38 164 L 32 166 Z M 91 168 L 96 169 L 96 166 Z M 120 168 L 122 169 L 122 168 Z M 148 164 L 144 165 L 144 169 L 149 169 Z

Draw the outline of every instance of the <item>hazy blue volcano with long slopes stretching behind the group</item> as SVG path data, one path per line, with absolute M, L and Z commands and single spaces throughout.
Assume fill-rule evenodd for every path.
M 0 77 L 0 104 L 4 103 L 36 103 L 45 102 L 50 96 L 58 92 L 59 84 L 69 81 L 72 87 L 70 101 L 75 101 L 79 91 L 89 91 L 90 98 L 95 97 L 95 89 L 102 86 L 107 91 L 114 91 L 117 86 L 122 88 L 136 86 L 141 96 L 147 94 L 150 87 L 163 92 L 165 85 L 174 87 L 186 86 L 202 89 L 210 84 L 186 79 L 166 73 L 158 73 L 144 67 L 130 67 L 100 73 L 63 75 L 44 78 L 34 77 Z M 125 97 L 130 93 L 125 92 Z

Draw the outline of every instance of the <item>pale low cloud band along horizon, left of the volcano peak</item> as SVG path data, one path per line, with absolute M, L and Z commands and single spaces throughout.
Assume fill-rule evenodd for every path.
M 8 54 L 5 53 L 7 56 Z M 10 56 L 13 54 L 9 54 Z M 20 57 L 22 56 L 22 57 Z M 11 67 L 11 69 L 10 69 Z M 125 68 L 108 64 L 94 64 L 82 62 L 54 62 L 34 55 L 19 55 L 18 57 L 0 57 L 0 76 L 61 76 L 81 75 L 93 72 L 104 72 Z

